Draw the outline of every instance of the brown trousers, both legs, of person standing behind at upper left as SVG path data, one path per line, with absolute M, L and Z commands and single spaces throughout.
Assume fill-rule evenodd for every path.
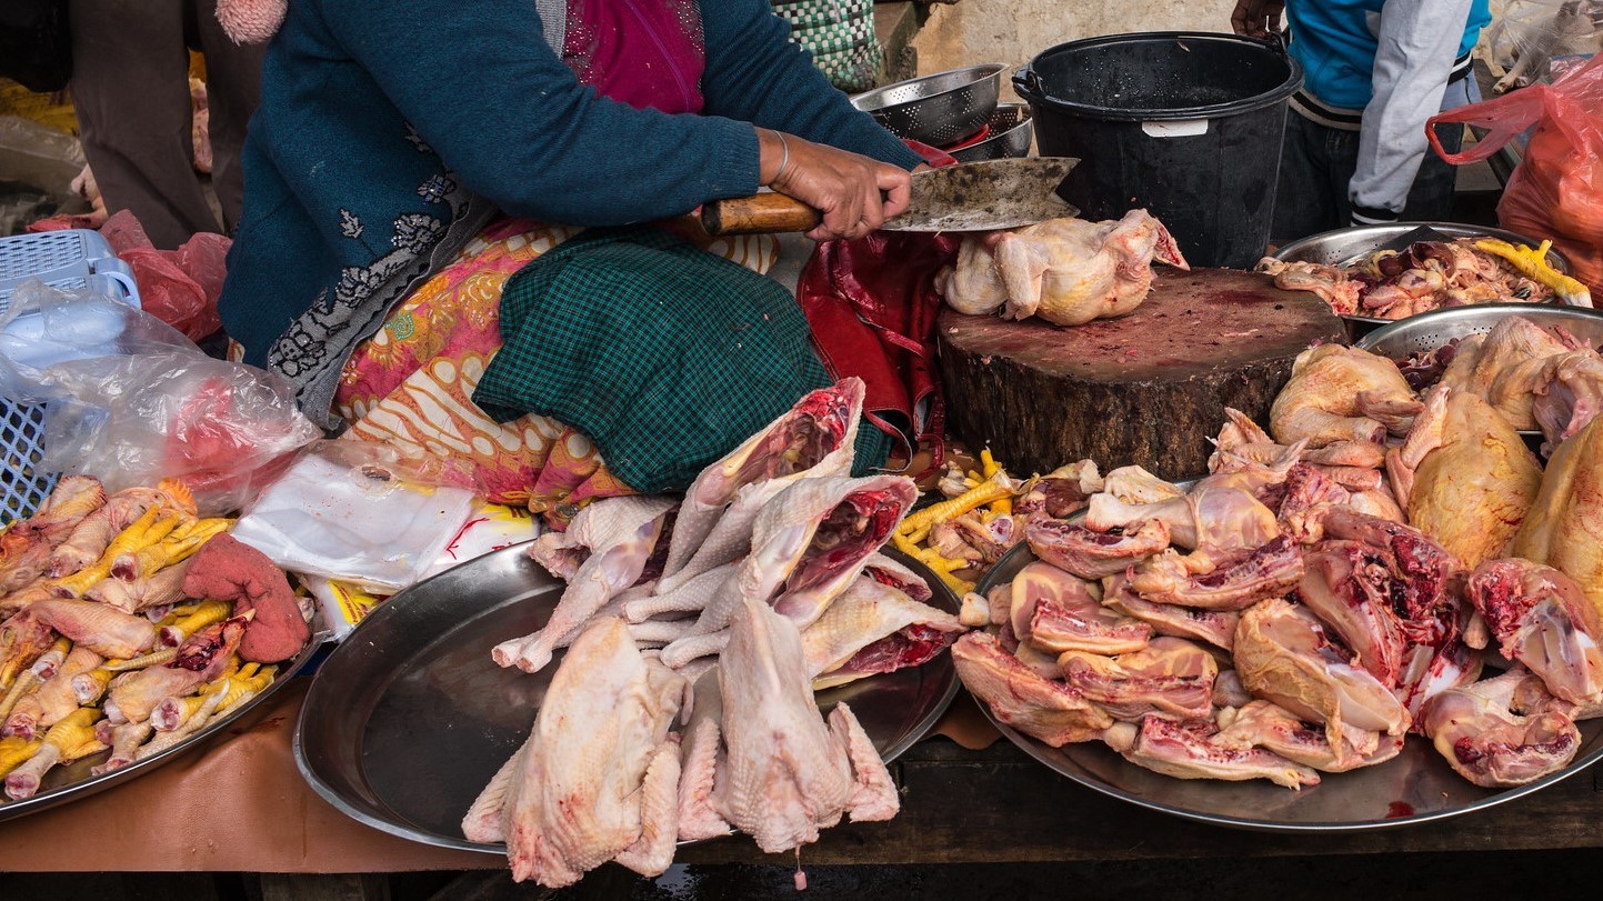
M 71 0 L 72 103 L 106 210 L 131 210 L 155 247 L 220 231 L 192 165 L 189 48 L 205 55 L 212 186 L 239 223 L 239 151 L 261 96 L 264 45 L 239 46 L 216 0 Z

